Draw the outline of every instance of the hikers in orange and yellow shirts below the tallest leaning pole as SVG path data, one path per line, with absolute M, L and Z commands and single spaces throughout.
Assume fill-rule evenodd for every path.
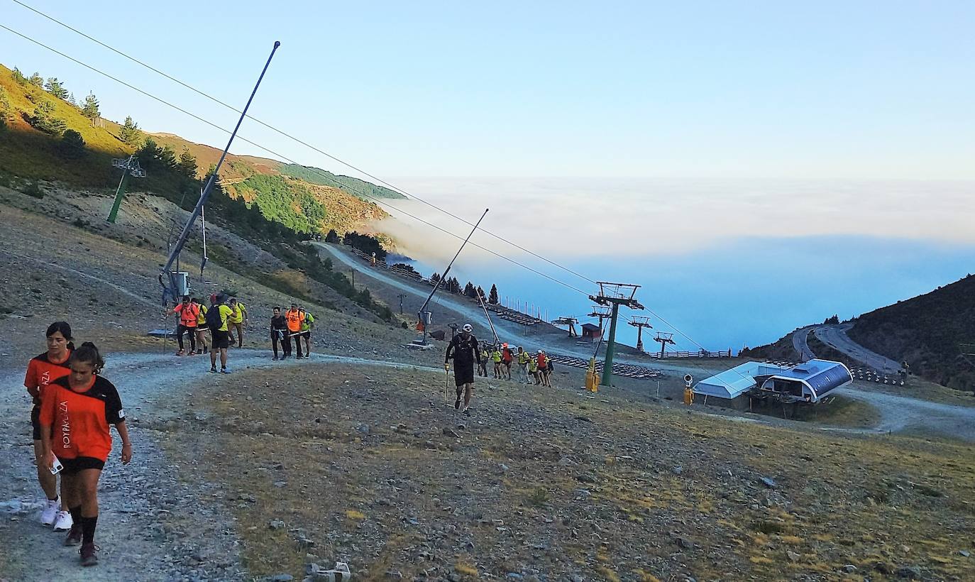
M 176 356 L 186 355 L 183 336 L 189 336 L 189 355 L 200 355 L 207 352 L 207 335 L 210 334 L 210 371 L 216 371 L 216 359 L 219 356 L 220 372 L 230 373 L 227 369 L 227 349 L 235 343 L 238 348 L 244 347 L 244 329 L 250 324 L 247 306 L 237 297 L 227 297 L 224 293 L 210 296 L 210 306 L 203 305 L 196 297 L 183 295 L 182 301 L 172 310 L 167 309 L 163 314 L 166 318 L 176 314 L 176 342 L 179 351 Z M 282 313 L 281 307 L 273 309 L 271 317 L 271 347 L 274 352 L 273 360 L 285 360 L 292 356 L 292 340 L 294 343 L 294 358 L 300 360 L 311 354 L 311 330 L 315 326 L 315 316 L 304 306 L 292 303 L 291 309 Z M 301 344 L 304 342 L 304 353 Z M 278 355 L 278 345 L 281 345 L 281 355 Z

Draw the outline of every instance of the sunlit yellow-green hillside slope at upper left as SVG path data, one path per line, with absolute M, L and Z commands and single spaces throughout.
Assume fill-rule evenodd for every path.
M 3 183 L 17 186 L 23 180 L 41 179 L 58 181 L 69 187 L 114 190 L 119 171 L 111 167 L 111 159 L 137 153 L 142 146 L 141 140 L 136 146 L 123 142 L 119 124 L 107 119 L 93 124 L 77 106 L 54 97 L 41 87 L 19 82 L 13 71 L 3 65 L 0 65 L 0 89 L 7 102 L 7 121 L 0 129 L 0 180 Z M 30 119 L 42 102 L 53 106 L 52 117 L 63 122 L 65 130 L 74 130 L 82 136 L 85 148 L 79 155 L 65 154 L 59 132 L 45 133 L 31 125 Z M 215 165 L 221 152 L 218 148 L 193 143 L 173 134 L 144 134 L 143 137 L 151 138 L 159 148 L 169 148 L 176 157 L 184 151 L 194 156 L 197 178 L 203 177 L 208 168 Z M 129 190 L 146 191 L 176 203 L 194 199 L 191 184 L 185 176 L 167 172 L 168 168 L 158 159 L 147 158 L 151 156 L 140 154 L 139 162 L 146 169 L 148 178 L 131 180 Z M 229 154 L 220 168 L 220 185 L 232 199 L 242 198 L 249 206 L 256 203 L 268 219 L 300 233 L 317 231 L 325 234 L 330 229 L 339 234 L 350 230 L 370 232 L 370 223 L 387 214 L 375 204 L 350 193 L 352 190 L 380 198 L 402 198 L 387 188 L 355 178 L 329 174 L 335 178 L 330 181 L 310 170 L 305 170 L 303 175 L 284 172 L 288 168 L 304 169 L 267 158 Z

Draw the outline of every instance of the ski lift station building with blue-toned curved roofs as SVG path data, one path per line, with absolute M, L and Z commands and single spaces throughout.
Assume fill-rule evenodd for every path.
M 816 404 L 827 394 L 853 380 L 850 370 L 839 362 L 810 360 L 796 366 L 746 362 L 705 378 L 694 393 L 710 404 L 744 409 L 752 396 L 767 396 L 788 402 Z

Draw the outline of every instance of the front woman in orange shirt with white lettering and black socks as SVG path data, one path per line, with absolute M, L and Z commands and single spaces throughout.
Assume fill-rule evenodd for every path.
M 42 466 L 54 466 L 55 456 L 64 466 L 61 485 L 74 520 L 64 545 L 81 544 L 82 565 L 98 563 L 98 478 L 112 448 L 109 425 L 114 424 L 122 438 L 122 462 L 132 460 L 119 393 L 98 375 L 104 365 L 94 343 L 81 344 L 68 359 L 70 373 L 48 386 L 41 403 Z

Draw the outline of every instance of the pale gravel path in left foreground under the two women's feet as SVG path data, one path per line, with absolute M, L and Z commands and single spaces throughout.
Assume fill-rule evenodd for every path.
M 135 459 L 123 466 L 116 437 L 112 456 L 102 474 L 98 492 L 101 513 L 98 545 L 101 563 L 81 568 L 77 551 L 60 545 L 63 534 L 36 520 L 41 494 L 36 485 L 33 449 L 29 436 L 30 400 L 22 388 L 22 370 L 0 371 L 0 430 L 11 438 L 0 451 L 12 459 L 0 473 L 0 579 L 10 580 L 239 580 L 243 572 L 238 555 L 237 527 L 209 485 L 189 485 L 177 479 L 174 467 L 158 446 L 161 431 L 192 430 L 190 422 L 206 422 L 192 411 L 166 410 L 156 397 L 181 390 L 190 392 L 201 382 L 221 382 L 225 376 L 209 373 L 209 358 L 176 358 L 169 353 L 118 353 L 107 358 L 104 375 L 119 388 L 130 418 Z M 367 360 L 315 354 L 314 362 L 345 362 L 393 369 L 427 369 Z M 293 367 L 294 361 L 272 362 L 266 351 L 232 350 L 233 374 L 245 370 Z M 233 375 L 231 374 L 231 376 Z M 226 377 L 231 377 L 226 376 Z M 39 559 L 39 556 L 45 556 Z

